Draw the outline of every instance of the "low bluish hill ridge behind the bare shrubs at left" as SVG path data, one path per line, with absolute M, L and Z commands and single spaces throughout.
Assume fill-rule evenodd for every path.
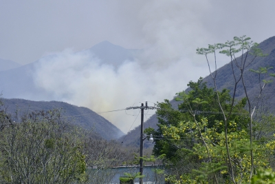
M 16 121 L 14 117 L 16 111 L 20 117 L 25 113 L 34 111 L 61 109 L 61 116 L 64 119 L 68 119 L 75 125 L 93 131 L 103 139 L 118 139 L 118 137 L 124 134 L 118 127 L 107 121 L 107 119 L 104 119 L 88 108 L 60 101 L 28 101 L 24 99 L 2 99 L 2 101 L 4 103 L 3 108 L 5 108 L 6 112 L 12 114 L 14 121 Z

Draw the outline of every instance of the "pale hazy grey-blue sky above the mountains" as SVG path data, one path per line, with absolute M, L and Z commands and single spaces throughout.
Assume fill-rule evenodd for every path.
M 0 0 L 0 58 L 31 63 L 104 40 L 124 48 L 175 44 L 180 52 L 243 34 L 260 42 L 274 36 L 274 7 L 272 0 Z

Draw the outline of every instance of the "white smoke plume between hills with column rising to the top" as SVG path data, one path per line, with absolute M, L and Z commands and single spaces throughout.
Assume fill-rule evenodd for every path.
M 171 6 L 163 1 L 157 6 L 154 2 L 140 10 L 144 49 L 133 61 L 124 61 L 113 68 L 87 50 L 76 53 L 64 50 L 39 61 L 34 74 L 36 85 L 52 93 L 55 99 L 95 112 L 172 99 L 176 92 L 186 88 L 188 81 L 197 81 L 199 76 L 208 74 L 205 65 L 195 61 L 196 45 L 204 39 L 190 37 L 202 33 L 199 17 L 190 16 L 194 14 L 184 11 L 187 10 L 184 5 L 177 1 Z M 190 6 L 192 11 L 203 10 L 195 3 Z M 151 7 L 155 8 L 153 14 Z M 137 115 L 138 110 L 127 113 Z M 125 112 L 100 115 L 125 133 L 136 118 Z M 137 120 L 133 127 L 139 124 Z

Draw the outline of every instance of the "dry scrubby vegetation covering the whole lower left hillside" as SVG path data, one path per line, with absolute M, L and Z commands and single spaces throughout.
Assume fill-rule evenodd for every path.
M 102 139 L 63 110 L 45 110 L 53 104 L 60 107 L 10 114 L 0 100 L 0 183 L 103 184 L 116 174 L 109 167 L 133 163 L 137 149 Z

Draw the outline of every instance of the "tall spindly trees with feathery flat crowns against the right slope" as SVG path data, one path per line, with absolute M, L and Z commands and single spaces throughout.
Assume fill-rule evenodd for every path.
M 219 51 L 221 50 L 221 51 Z M 254 111 L 256 109 L 256 105 L 252 104 L 252 96 L 248 94 L 248 89 L 246 86 L 245 81 L 245 75 L 244 72 L 246 68 L 248 68 L 249 65 L 251 65 L 257 57 L 265 57 L 266 55 L 263 54 L 262 50 L 259 48 L 258 43 L 254 43 L 251 41 L 250 37 L 242 36 L 242 37 L 234 37 L 232 41 L 227 41 L 225 43 L 217 43 L 213 45 L 208 45 L 208 48 L 197 48 L 197 54 L 202 54 L 206 57 L 206 61 L 209 66 L 209 72 L 210 76 L 212 77 L 212 80 L 214 82 L 214 89 L 217 92 L 218 95 L 218 87 L 217 87 L 217 54 L 225 54 L 226 56 L 230 57 L 230 65 L 232 68 L 232 76 L 234 78 L 234 87 L 233 87 L 233 94 L 232 94 L 232 107 L 234 104 L 234 99 L 236 98 L 236 90 L 238 89 L 238 85 L 241 85 L 243 87 L 243 91 L 245 93 L 245 98 L 248 103 L 248 112 L 250 120 L 249 123 L 249 129 L 250 129 L 250 179 L 252 178 L 252 174 L 254 171 L 254 155 L 253 155 L 253 115 Z M 241 53 L 241 57 L 236 58 L 236 54 Z M 212 72 L 210 70 L 210 62 L 208 60 L 208 56 L 210 54 L 214 54 L 214 68 L 215 71 Z M 265 68 L 267 69 L 267 68 Z M 259 73 L 259 76 L 261 74 L 266 74 L 267 70 L 260 70 L 259 71 L 253 71 L 256 73 Z M 271 74 L 273 76 L 274 74 Z M 259 77 L 261 79 L 261 77 Z M 263 92 L 263 88 L 265 88 L 265 84 L 270 81 L 263 80 L 263 85 L 261 85 L 261 81 L 259 81 L 261 89 L 259 92 L 259 98 Z M 256 85 L 256 83 L 254 84 Z M 218 97 L 219 101 L 219 97 Z M 233 172 L 233 166 L 231 162 L 231 156 L 230 156 L 230 150 L 228 145 L 228 119 L 230 118 L 232 112 L 230 112 L 228 115 L 224 113 L 224 109 L 221 106 L 221 103 L 219 103 L 220 111 L 223 113 L 223 120 L 225 123 L 225 147 L 227 150 L 228 155 L 228 165 L 229 165 L 229 173 L 230 177 L 232 179 L 233 183 L 236 183 L 234 172 Z

